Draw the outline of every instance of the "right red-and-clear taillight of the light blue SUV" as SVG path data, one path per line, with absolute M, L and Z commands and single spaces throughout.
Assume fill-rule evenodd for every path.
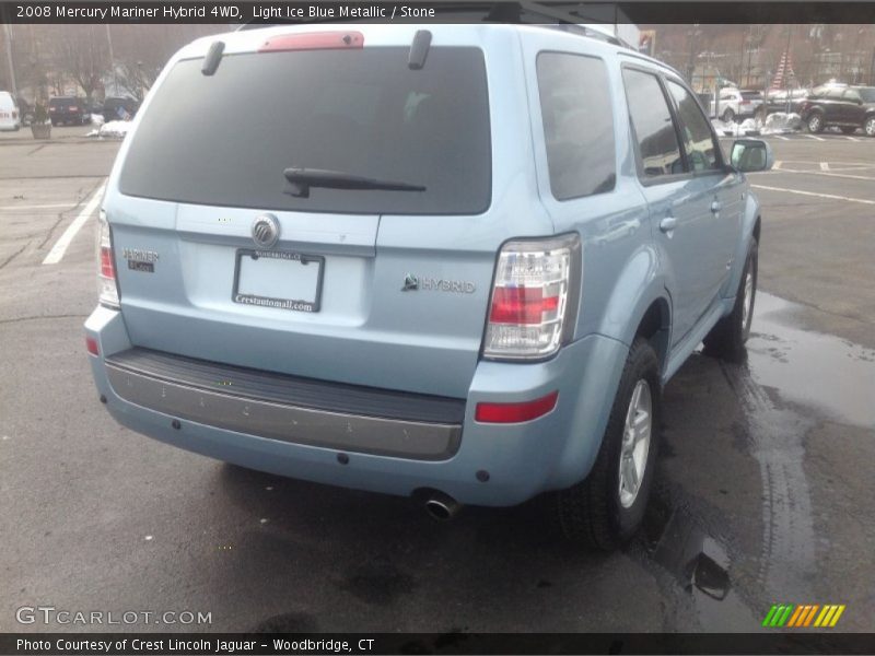
M 483 356 L 526 360 L 556 353 L 573 330 L 580 271 L 576 234 L 505 244 L 495 268 Z

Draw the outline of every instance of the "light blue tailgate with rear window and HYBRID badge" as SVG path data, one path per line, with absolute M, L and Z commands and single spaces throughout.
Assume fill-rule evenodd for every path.
M 105 201 L 135 344 L 466 396 L 498 248 L 551 226 L 541 216 L 535 227 L 520 203 L 534 198 L 534 178 L 518 171 L 520 153 L 532 161 L 530 138 L 493 138 L 490 104 L 522 98 L 524 107 L 523 87 L 490 95 L 470 30 L 435 31 L 425 66 L 412 70 L 413 34 L 365 31 L 364 48 L 230 48 L 212 77 L 201 74 L 202 58 L 172 65 Z M 506 114 L 527 129 L 522 109 Z M 425 190 L 314 185 L 302 194 L 288 167 Z M 509 207 L 518 213 L 509 216 Z M 279 238 L 260 248 L 253 226 L 264 214 Z

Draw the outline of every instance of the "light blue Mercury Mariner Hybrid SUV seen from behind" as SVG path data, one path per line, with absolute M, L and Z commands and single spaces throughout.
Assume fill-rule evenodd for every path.
M 245 105 L 241 98 L 247 98 Z M 518 25 L 197 40 L 107 184 L 85 324 L 121 424 L 447 518 L 556 492 L 640 525 L 661 389 L 738 358 L 760 211 L 670 68 Z

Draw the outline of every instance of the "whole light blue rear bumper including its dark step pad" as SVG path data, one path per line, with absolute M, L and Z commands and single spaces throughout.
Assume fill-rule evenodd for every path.
M 205 382 L 228 367 L 205 363 L 217 368 L 196 373 L 197 361 L 187 359 L 178 359 L 176 373 L 150 365 L 130 344 L 118 312 L 98 307 L 85 330 L 98 343 L 101 355 L 90 360 L 107 410 L 133 431 L 280 476 L 399 495 L 435 489 L 462 503 L 495 506 L 588 473 L 627 352 L 621 342 L 590 336 L 548 362 L 481 362 L 464 400 L 368 388 L 357 397 L 312 380 L 254 387 L 240 374 L 301 380 L 237 367 L 212 389 Z M 525 401 L 555 390 L 556 408 L 537 420 L 474 419 L 478 402 Z

